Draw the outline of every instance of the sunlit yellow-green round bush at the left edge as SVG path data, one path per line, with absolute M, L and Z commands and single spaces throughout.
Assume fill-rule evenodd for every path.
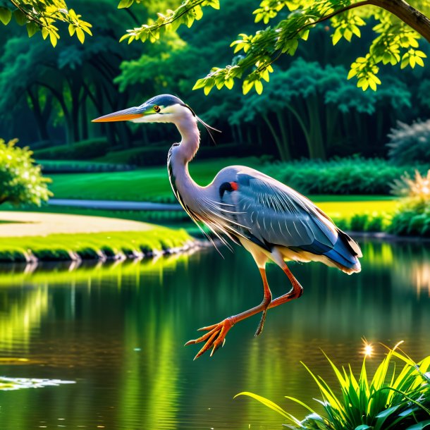
M 37 204 L 47 201 L 49 178 L 35 166 L 32 152 L 16 146 L 18 140 L 0 139 L 0 204 Z

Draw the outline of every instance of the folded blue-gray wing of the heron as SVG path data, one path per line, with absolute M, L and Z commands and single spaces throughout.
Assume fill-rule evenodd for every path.
M 238 190 L 229 197 L 238 224 L 252 240 L 317 253 L 336 243 L 336 226 L 300 193 L 258 171 L 238 172 L 236 180 Z

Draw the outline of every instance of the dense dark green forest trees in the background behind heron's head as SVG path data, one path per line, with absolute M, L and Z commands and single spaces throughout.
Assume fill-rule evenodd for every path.
M 39 151 L 39 158 L 68 158 L 67 147 L 82 142 L 78 158 L 130 150 L 133 158 L 125 161 L 145 164 L 139 149 L 172 142 L 173 127 L 166 135 L 166 128 L 99 125 L 90 120 L 165 92 L 177 94 L 204 121 L 223 131 L 216 135 L 219 145 L 207 150 L 214 156 L 270 154 L 283 160 L 329 159 L 335 154 L 386 156 L 387 135 L 397 121 L 429 117 L 426 68 L 387 66 L 381 70 L 383 83 L 376 92 L 363 92 L 347 80 L 350 63 L 370 43 L 371 25 L 362 30 L 360 43 L 341 40 L 333 49 L 333 30 L 321 23 L 294 58 L 278 61 L 261 95 L 244 96 L 235 86 L 205 96 L 202 90 L 192 91 L 195 81 L 211 66 L 238 61 L 229 44 L 240 32 L 256 30 L 252 11 L 257 3 L 223 0 L 220 11 L 207 11 L 192 30 L 180 27 L 154 44 L 118 40 L 127 28 L 171 2 L 119 10 L 117 0 L 75 3 L 93 24 L 94 36 L 87 37 L 85 44 L 63 37 L 54 48 L 40 35 L 29 39 L 18 25 L 8 25 L 0 33 L 4 45 L 0 135 L 18 137 L 20 145 Z M 423 43 L 422 49 L 430 55 L 428 44 Z M 211 145 L 206 134 L 203 141 Z M 166 145 L 162 148 L 160 163 Z M 156 155 L 154 159 L 158 160 Z

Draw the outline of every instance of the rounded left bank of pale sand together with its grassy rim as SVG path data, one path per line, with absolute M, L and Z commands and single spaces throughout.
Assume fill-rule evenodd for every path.
M 29 228 L 27 235 L 22 224 L 8 223 L 3 232 L 0 228 L 0 261 L 3 262 L 23 262 L 29 251 L 37 259 L 49 261 L 69 260 L 71 254 L 94 259 L 102 254 L 113 257 L 120 252 L 149 253 L 183 247 L 191 240 L 183 229 L 135 221 L 96 217 L 87 221 L 83 216 L 27 212 L 4 212 L 3 218 L 7 219 L 6 214 L 33 221 L 26 226 Z

